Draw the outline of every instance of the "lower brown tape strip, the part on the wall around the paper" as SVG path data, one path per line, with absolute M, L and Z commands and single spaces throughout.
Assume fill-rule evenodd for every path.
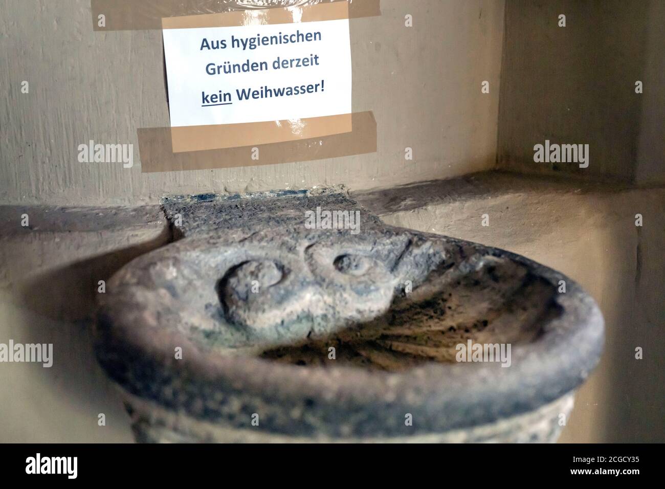
M 217 150 L 172 152 L 171 128 L 140 128 L 138 146 L 142 172 L 209 170 L 338 158 L 376 152 L 376 120 L 372 112 L 351 114 L 351 132 L 320 138 L 274 142 Z M 258 159 L 253 159 L 258 148 Z

